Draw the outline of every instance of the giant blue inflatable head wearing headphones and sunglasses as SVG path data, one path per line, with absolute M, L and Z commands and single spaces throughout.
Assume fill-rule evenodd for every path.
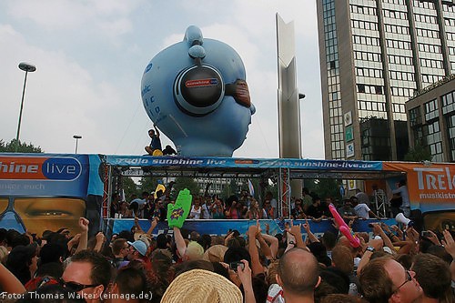
M 184 157 L 231 157 L 255 113 L 240 56 L 194 25 L 152 58 L 141 90 L 147 115 Z

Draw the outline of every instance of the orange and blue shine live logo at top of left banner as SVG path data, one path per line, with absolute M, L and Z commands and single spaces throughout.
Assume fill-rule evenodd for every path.
M 0 157 L 0 179 L 71 181 L 81 172 L 74 157 Z

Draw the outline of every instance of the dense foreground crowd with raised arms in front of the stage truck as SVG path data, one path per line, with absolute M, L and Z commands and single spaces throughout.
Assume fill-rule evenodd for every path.
M 423 237 L 412 226 L 374 223 L 370 234 L 355 235 L 360 240 L 356 247 L 341 234 L 328 231 L 316 237 L 308 223 L 294 225 L 290 220 L 282 233 L 270 235 L 267 224 L 261 227 L 251 220 L 245 235 L 232 230 L 215 237 L 182 228 L 185 219 L 203 217 L 204 212 L 197 211 L 199 197 L 187 205 L 187 213 L 179 212 L 185 208 L 179 197 L 170 202 L 172 214 L 165 216 L 172 236 L 152 236 L 160 216 L 149 217 L 147 231 L 136 217 L 134 227 L 108 240 L 102 232 L 88 237 L 89 222 L 83 217 L 76 235 L 67 228 L 39 236 L 0 229 L 0 300 L 454 301 L 455 242 L 449 230 L 427 231 Z M 313 201 L 306 212 L 319 202 Z M 296 203 L 298 207 L 302 206 Z M 258 218 L 260 208 L 254 200 L 246 213 Z M 358 216 L 348 210 L 345 214 L 350 219 Z

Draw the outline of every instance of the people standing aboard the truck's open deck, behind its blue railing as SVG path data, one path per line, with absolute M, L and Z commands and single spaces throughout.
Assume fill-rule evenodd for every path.
M 153 218 L 159 217 L 164 221 L 167 217 L 167 205 L 172 203 L 169 197 L 170 182 L 163 193 L 143 192 L 141 198 L 133 195 L 129 202 L 120 201 L 120 196 L 112 196 L 110 217 L 118 218 Z M 355 219 L 378 218 L 379 216 L 371 206 L 370 201 L 360 201 L 359 195 L 349 197 L 342 203 L 332 197 L 321 199 L 314 193 L 309 193 L 303 188 L 302 198 L 292 198 L 290 218 L 311 219 L 318 222 L 324 218 L 332 217 L 329 205 L 335 205 L 341 217 L 348 223 Z M 374 210 L 373 210 L 374 209 Z M 243 190 L 240 195 L 232 195 L 226 200 L 217 195 L 198 195 L 193 198 L 193 205 L 189 214 L 190 219 L 276 219 L 278 216 L 278 202 L 273 194 L 268 191 L 262 201 L 251 197 Z

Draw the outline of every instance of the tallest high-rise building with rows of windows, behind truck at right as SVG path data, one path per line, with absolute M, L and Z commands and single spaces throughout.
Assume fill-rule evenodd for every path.
M 405 102 L 455 74 L 453 0 L 317 0 L 327 159 L 400 160 Z

